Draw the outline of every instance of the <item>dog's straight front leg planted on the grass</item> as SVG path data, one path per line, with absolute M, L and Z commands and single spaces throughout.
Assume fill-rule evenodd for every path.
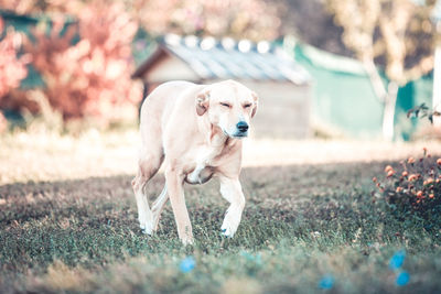
M 192 224 L 190 222 L 189 211 L 186 210 L 184 197 L 184 176 L 175 168 L 165 170 L 166 188 L 173 208 L 174 219 L 178 226 L 178 235 L 184 244 L 193 243 Z

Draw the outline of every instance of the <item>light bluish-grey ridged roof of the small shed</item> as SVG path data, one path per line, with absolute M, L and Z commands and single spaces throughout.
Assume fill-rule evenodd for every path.
M 157 50 L 137 68 L 133 77 L 141 77 L 164 54 L 183 61 L 201 79 L 276 80 L 297 85 L 311 79 L 303 67 L 269 42 L 171 34 L 159 40 Z

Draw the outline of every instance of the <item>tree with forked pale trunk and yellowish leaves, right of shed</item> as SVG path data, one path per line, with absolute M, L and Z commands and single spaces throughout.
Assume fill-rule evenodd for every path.
M 394 117 L 400 86 L 433 68 L 435 28 L 430 21 L 435 0 L 325 0 L 344 29 L 343 42 L 354 51 L 384 102 L 383 135 L 394 138 Z M 385 66 L 385 85 L 376 64 Z

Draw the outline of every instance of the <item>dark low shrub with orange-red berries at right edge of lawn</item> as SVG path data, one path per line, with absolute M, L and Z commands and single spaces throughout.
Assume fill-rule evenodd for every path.
M 384 181 L 373 178 L 389 208 L 417 214 L 424 219 L 441 214 L 441 159 L 434 160 L 427 149 L 422 157 L 401 161 L 397 168 L 385 167 Z M 375 194 L 375 193 L 374 193 Z

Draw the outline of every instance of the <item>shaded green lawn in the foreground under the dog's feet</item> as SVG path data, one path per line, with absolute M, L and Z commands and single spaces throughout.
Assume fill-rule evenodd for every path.
M 158 233 L 137 224 L 127 175 L 0 186 L 0 292 L 435 293 L 441 221 L 399 220 L 373 203 L 385 163 L 244 168 L 247 204 L 233 239 L 214 179 L 186 186 L 196 243 L 182 247 L 170 204 Z M 151 199 L 162 175 L 149 184 Z M 406 250 L 396 285 L 389 259 Z M 193 271 L 180 262 L 194 257 Z M 319 287 L 331 274 L 331 290 Z

